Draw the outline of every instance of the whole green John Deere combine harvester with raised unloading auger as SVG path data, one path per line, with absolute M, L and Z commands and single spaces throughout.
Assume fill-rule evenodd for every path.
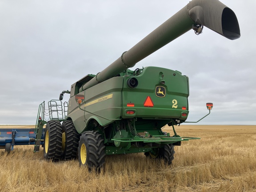
M 128 68 L 190 29 L 199 35 L 204 26 L 230 40 L 240 37 L 230 8 L 218 0 L 192 0 L 102 72 L 84 76 L 60 100 L 49 101 L 48 121 L 40 104 L 34 151 L 44 135 L 46 160 L 78 156 L 81 166 L 100 169 L 106 155 L 143 152 L 171 164 L 174 146 L 200 139 L 181 137 L 174 128 L 188 118 L 188 76 L 160 67 Z M 70 94 L 68 103 L 61 102 L 64 93 Z M 207 108 L 210 113 L 212 103 Z M 173 134 L 162 132 L 166 124 Z

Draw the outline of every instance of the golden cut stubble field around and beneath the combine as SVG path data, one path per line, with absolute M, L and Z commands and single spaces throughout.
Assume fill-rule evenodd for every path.
M 172 135 L 171 128 L 164 131 Z M 176 146 L 171 166 L 142 153 L 113 155 L 99 174 L 80 168 L 78 160 L 46 162 L 42 148 L 33 153 L 33 146 L 16 146 L 9 155 L 0 150 L 0 191 L 256 191 L 256 125 L 182 125 L 176 132 L 201 139 Z

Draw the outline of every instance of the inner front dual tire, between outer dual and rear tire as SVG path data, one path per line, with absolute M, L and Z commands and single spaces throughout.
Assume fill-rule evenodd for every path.
M 70 160 L 77 157 L 80 134 L 71 120 L 62 123 L 62 158 Z

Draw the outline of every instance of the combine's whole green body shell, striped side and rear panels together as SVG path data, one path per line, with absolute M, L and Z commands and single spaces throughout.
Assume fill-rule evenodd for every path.
M 131 77 L 138 80 L 136 88 L 127 85 Z M 163 80 L 164 84 L 161 84 Z M 163 89 L 160 91 L 162 93 L 158 93 L 158 88 Z M 171 119 L 186 120 L 187 116 L 182 116 L 182 113 L 188 114 L 188 77 L 166 68 L 146 67 L 139 76 L 114 77 L 88 88 L 80 95 L 84 95 L 85 101 L 81 108 L 87 112 L 79 109 L 75 97 L 70 98 L 68 106 L 68 117 L 73 120 L 79 133 L 86 130 L 86 125 L 92 119 L 101 126 L 120 117 L 162 119 L 168 123 Z M 148 96 L 154 104 L 152 107 L 144 106 Z M 134 106 L 129 107 L 130 103 Z M 127 114 L 129 110 L 135 114 Z

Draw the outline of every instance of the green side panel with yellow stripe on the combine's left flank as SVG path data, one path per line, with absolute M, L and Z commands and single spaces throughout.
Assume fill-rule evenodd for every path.
M 84 95 L 85 101 L 81 104 L 81 108 L 87 112 L 79 109 L 75 97 L 70 98 L 68 117 L 73 120 L 77 131 L 81 133 L 87 130 L 86 127 L 90 120 L 96 120 L 101 126 L 105 126 L 119 119 L 122 110 L 122 88 L 123 77 L 114 77 L 80 92 L 80 95 Z

